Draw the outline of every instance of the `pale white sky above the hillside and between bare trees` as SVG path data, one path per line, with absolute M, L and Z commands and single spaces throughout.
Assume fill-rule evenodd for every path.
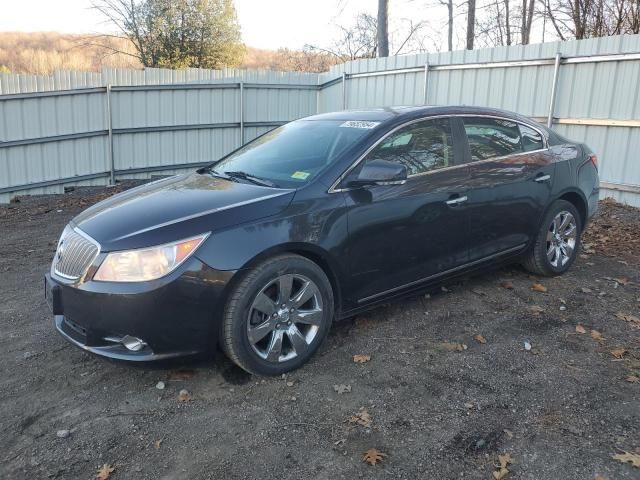
M 234 0 L 242 39 L 257 48 L 301 49 L 310 44 L 331 47 L 339 38 L 336 25 L 350 26 L 358 13 L 375 15 L 377 0 Z M 446 48 L 446 8 L 437 0 L 391 0 L 390 41 L 402 43 L 409 21 L 425 21 L 420 45 L 429 51 Z M 461 1 L 460 5 L 464 2 Z M 431 5 L 431 6 L 428 6 Z M 458 5 L 458 3 L 456 3 Z M 454 11 L 454 49 L 464 48 L 466 19 L 464 8 Z M 91 8 L 91 0 L 0 0 L 1 31 L 57 31 L 62 33 L 115 33 L 102 14 Z M 548 40 L 552 40 L 549 38 Z M 538 19 L 532 32 L 541 40 Z M 478 44 L 478 47 L 482 45 Z M 401 53 L 412 53 L 410 44 Z

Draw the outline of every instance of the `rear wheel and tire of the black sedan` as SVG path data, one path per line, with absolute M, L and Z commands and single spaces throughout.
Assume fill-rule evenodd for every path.
M 580 213 L 572 203 L 556 200 L 545 214 L 540 231 L 522 265 L 536 275 L 562 275 L 575 261 L 581 238 Z

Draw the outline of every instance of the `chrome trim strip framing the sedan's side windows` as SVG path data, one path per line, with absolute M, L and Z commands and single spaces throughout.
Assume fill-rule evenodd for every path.
M 530 123 L 525 123 L 521 120 L 515 120 L 513 118 L 509 118 L 509 117 L 505 117 L 505 116 L 501 116 L 501 115 L 490 115 L 490 114 L 474 114 L 474 113 L 453 113 L 453 114 L 443 114 L 443 115 L 430 115 L 430 116 L 426 116 L 426 117 L 420 117 L 420 118 L 416 118 L 413 120 L 409 120 L 408 122 L 405 122 L 401 125 L 398 125 L 396 127 L 394 127 L 392 130 L 388 131 L 387 133 L 385 133 L 382 137 L 380 137 L 373 145 L 371 145 L 362 155 L 360 155 L 360 157 L 358 157 L 355 162 L 353 162 L 351 164 L 351 166 L 349 166 L 339 177 L 338 179 L 333 182 L 331 184 L 331 187 L 329 187 L 329 190 L 327 190 L 327 193 L 340 193 L 340 192 L 348 192 L 353 190 L 353 188 L 350 187 L 346 187 L 346 188 L 337 188 L 337 186 L 340 184 L 340 182 L 342 182 L 348 175 L 349 173 L 351 173 L 351 171 L 356 168 L 360 162 L 367 156 L 369 155 L 369 153 L 371 153 L 371 151 L 376 148 L 380 143 L 382 143 L 389 135 L 391 135 L 392 133 L 397 132 L 398 130 L 400 130 L 401 128 L 407 127 L 409 125 L 413 125 L 414 123 L 418 123 L 418 122 L 423 122 L 426 120 L 435 120 L 438 118 L 452 118 L 452 117 L 476 117 L 476 118 L 495 118 L 498 120 L 507 120 L 509 122 L 513 122 L 513 123 L 517 123 L 519 125 L 525 125 L 533 130 L 535 130 L 536 132 L 538 132 L 540 134 L 540 136 L 542 137 L 542 142 L 544 144 L 544 148 L 542 149 L 538 149 L 538 150 L 531 150 L 529 152 L 518 152 L 518 153 L 514 153 L 512 155 L 503 155 L 501 157 L 493 157 L 493 158 L 489 158 L 486 160 L 477 160 L 475 162 L 469 162 L 469 163 L 462 163 L 460 165 L 451 165 L 449 167 L 444 167 L 444 168 L 438 168 L 437 170 L 431 170 L 429 172 L 422 172 L 422 173 L 416 173 L 414 175 L 409 175 L 407 177 L 407 179 L 410 178 L 414 178 L 414 177 L 420 177 L 423 175 L 430 175 L 436 172 L 444 172 L 447 170 L 453 170 L 456 168 L 461 168 L 461 167 L 468 167 L 471 165 L 479 165 L 481 163 L 486 163 L 486 162 L 494 162 L 496 160 L 500 160 L 503 158 L 509 158 L 509 157 L 514 157 L 517 155 L 530 155 L 532 153 L 536 153 L 536 152 L 544 152 L 546 150 L 549 150 L 549 138 L 547 137 L 546 133 L 541 130 L 539 127 L 532 125 Z

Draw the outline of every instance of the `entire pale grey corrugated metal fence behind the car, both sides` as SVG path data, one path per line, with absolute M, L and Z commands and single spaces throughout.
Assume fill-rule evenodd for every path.
M 600 156 L 603 195 L 640 205 L 638 35 L 358 60 L 320 75 L 0 75 L 0 92 L 0 202 L 193 168 L 316 112 L 467 104 L 518 111 L 586 141 Z

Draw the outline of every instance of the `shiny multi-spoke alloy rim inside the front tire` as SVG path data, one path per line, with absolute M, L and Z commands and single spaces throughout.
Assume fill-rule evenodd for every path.
M 286 362 L 310 348 L 323 318 L 318 286 L 304 275 L 280 275 L 254 298 L 247 318 L 247 337 L 263 360 Z

